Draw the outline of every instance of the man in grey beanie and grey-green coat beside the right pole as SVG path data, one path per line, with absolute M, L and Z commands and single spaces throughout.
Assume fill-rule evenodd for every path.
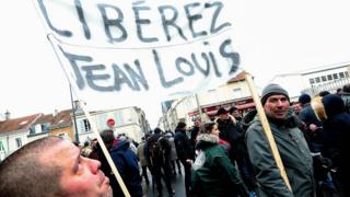
M 313 159 L 298 118 L 290 107 L 288 92 L 279 84 L 269 84 L 262 90 L 261 103 L 272 136 L 291 185 L 285 185 L 272 157 L 262 124 L 255 115 L 250 117 L 246 132 L 246 146 L 258 182 L 258 196 L 314 197 L 315 182 Z

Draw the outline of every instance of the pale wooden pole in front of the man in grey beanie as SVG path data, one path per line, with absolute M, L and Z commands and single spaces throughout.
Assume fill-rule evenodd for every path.
M 246 73 L 245 79 L 246 79 L 246 81 L 248 83 L 252 97 L 254 100 L 256 109 L 258 112 L 259 119 L 260 119 L 260 121 L 262 124 L 264 134 L 265 134 L 265 136 L 266 136 L 266 138 L 267 138 L 267 140 L 269 142 L 269 146 L 270 146 L 270 149 L 271 149 L 271 152 L 272 152 L 272 157 L 273 157 L 273 159 L 276 161 L 276 164 L 277 164 L 278 169 L 280 170 L 280 174 L 281 174 L 287 187 L 292 192 L 292 187 L 291 187 L 291 185 L 289 183 L 289 179 L 288 179 L 288 176 L 287 176 L 287 173 L 285 173 L 285 170 L 284 170 L 280 153 L 279 153 L 279 151 L 277 149 L 277 144 L 276 144 L 275 138 L 272 136 L 270 125 L 269 125 L 269 123 L 267 120 L 267 117 L 265 115 L 264 107 L 261 105 L 258 92 L 257 92 L 257 90 L 255 88 L 255 83 L 253 81 L 253 78 L 252 78 L 252 76 L 249 73 Z

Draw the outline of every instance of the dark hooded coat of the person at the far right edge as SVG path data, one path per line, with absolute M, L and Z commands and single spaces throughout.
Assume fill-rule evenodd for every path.
M 323 99 L 327 119 L 324 121 L 325 157 L 331 159 L 334 167 L 338 169 L 345 188 L 350 189 L 350 114 L 346 113 L 345 104 L 338 95 L 327 95 Z

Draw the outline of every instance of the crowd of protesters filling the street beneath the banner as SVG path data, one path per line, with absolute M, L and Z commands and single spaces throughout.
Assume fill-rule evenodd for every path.
M 172 177 L 183 174 L 187 197 L 350 196 L 350 154 L 347 152 L 350 150 L 350 84 L 335 94 L 327 91 L 319 92 L 315 97 L 302 94 L 296 102 L 290 101 L 289 93 L 282 86 L 269 84 L 262 90 L 260 101 L 285 176 L 272 154 L 256 109 L 243 116 L 235 106 L 220 108 L 211 121 L 202 123 L 200 118 L 195 118 L 191 128 L 179 121 L 174 132 L 155 128 L 148 131 L 140 143 L 126 136 L 115 137 L 115 132 L 108 129 L 100 134 L 132 197 L 145 195 L 142 178 L 147 186 L 152 185 L 154 196 L 173 196 L 176 190 Z M 47 147 L 43 155 L 54 155 L 60 149 L 67 153 L 77 152 L 74 146 L 58 137 L 47 137 L 24 146 L 0 164 L 1 179 L 5 177 L 9 181 L 1 181 L 1 195 L 124 196 L 97 140 L 84 143 L 80 148 L 83 158 L 78 158 L 86 166 L 84 171 L 88 174 L 100 174 L 98 177 L 92 176 L 91 183 L 63 183 L 62 179 L 68 178 L 66 166 L 62 165 L 60 172 L 54 172 L 51 165 L 58 166 L 52 163 L 58 158 L 45 159 L 37 154 L 39 146 Z M 33 170 L 27 170 L 23 159 L 36 165 L 34 169 L 38 171 L 28 173 L 35 173 L 31 177 L 21 176 L 20 183 L 19 178 L 14 178 L 18 177 L 14 171 L 25 174 Z M 71 158 L 62 160 L 73 162 Z M 36 176 L 48 183 L 24 184 L 38 181 Z M 106 181 L 100 183 L 98 178 Z M 98 181 L 95 190 L 86 185 L 94 188 L 93 181 Z M 74 189 L 70 183 L 81 187 Z M 30 189 L 25 192 L 24 187 Z

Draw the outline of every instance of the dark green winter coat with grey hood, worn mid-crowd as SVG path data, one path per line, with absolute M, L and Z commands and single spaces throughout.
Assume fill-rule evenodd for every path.
M 191 173 L 194 190 L 198 196 L 247 196 L 237 170 L 232 165 L 223 146 L 218 143 L 218 138 L 208 134 L 199 135 L 196 149 L 206 155 L 203 165 Z

